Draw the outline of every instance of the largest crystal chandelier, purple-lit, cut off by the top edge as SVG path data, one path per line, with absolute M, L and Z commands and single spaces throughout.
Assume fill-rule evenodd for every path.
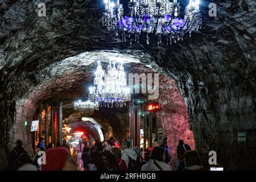
M 185 33 L 191 36 L 191 32 L 201 28 L 200 0 L 189 0 L 184 15 L 177 0 L 130 0 L 127 15 L 119 0 L 104 0 L 104 3 L 102 25 L 113 30 L 116 36 L 121 34 L 122 40 L 130 44 L 139 43 L 144 32 L 147 44 L 150 35 L 155 34 L 158 44 L 165 39 L 168 45 L 183 40 Z

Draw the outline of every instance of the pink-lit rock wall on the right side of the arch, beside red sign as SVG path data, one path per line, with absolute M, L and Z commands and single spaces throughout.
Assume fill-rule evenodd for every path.
M 179 139 L 195 150 L 193 132 L 189 129 L 188 113 L 184 98 L 177 89 L 174 80 L 166 76 L 159 77 L 159 101 L 162 109 L 158 111 L 158 119 L 162 121 L 163 137 L 168 138 L 172 163 L 176 159 L 176 146 Z

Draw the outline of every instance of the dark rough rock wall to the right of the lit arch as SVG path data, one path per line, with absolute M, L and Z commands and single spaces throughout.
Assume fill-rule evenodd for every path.
M 226 169 L 255 169 L 255 3 L 238 2 L 218 5 L 201 35 L 163 49 L 155 60 L 177 81 L 204 161 L 214 150 Z M 246 131 L 245 144 L 237 131 Z

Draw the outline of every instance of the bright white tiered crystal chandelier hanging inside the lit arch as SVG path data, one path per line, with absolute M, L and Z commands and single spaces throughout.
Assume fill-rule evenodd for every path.
M 122 107 L 126 101 L 131 100 L 130 90 L 127 87 L 126 74 L 122 64 L 113 64 L 109 61 L 106 71 L 102 69 L 101 62 L 98 61 L 94 85 L 90 88 L 89 101 L 97 102 L 104 107 Z

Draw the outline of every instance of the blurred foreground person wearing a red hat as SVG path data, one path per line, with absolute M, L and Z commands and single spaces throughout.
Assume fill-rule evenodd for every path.
M 42 164 L 42 171 L 77 171 L 77 163 L 67 148 L 50 148 L 46 151 L 46 164 Z

